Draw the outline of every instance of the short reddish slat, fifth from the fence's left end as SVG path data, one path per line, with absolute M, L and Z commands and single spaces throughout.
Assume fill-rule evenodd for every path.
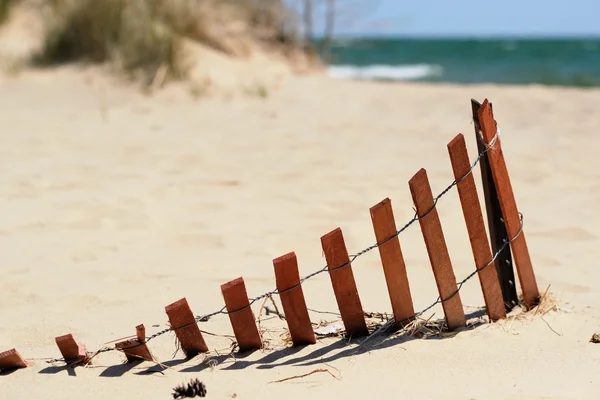
M 250 308 L 244 278 L 240 277 L 221 285 L 221 293 L 240 351 L 260 349 L 262 341 Z

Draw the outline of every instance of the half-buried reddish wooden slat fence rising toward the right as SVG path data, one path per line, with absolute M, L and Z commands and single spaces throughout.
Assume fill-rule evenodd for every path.
M 465 138 L 462 134 L 450 141 L 448 153 L 455 178 L 453 185 L 457 187 L 460 197 L 487 314 L 491 321 L 497 321 L 505 318 L 506 311 L 516 304 L 514 273 L 510 258 L 511 248 L 525 308 L 530 309 L 537 304 L 539 292 L 491 103 L 487 99 L 483 104 L 473 100 L 472 105 L 479 149 L 477 161 L 481 165 L 488 226 L 493 239 L 494 255 L 490 250 L 483 212 L 475 180 L 471 173 L 475 164 L 470 164 Z M 419 170 L 409 180 L 409 188 L 416 207 L 415 220 L 419 221 L 421 227 L 439 291 L 439 302 L 442 304 L 448 328 L 451 330 L 460 328 L 466 325 L 459 293 L 462 282 L 460 285 L 457 284 L 448 255 L 442 225 L 436 210 L 439 197 L 434 199 L 425 169 Z M 394 321 L 398 327 L 402 327 L 414 320 L 417 314 L 415 314 L 406 265 L 398 239 L 401 231 L 396 228 L 391 200 L 386 198 L 371 207 L 370 214 L 377 240 L 377 245 L 372 248 L 379 249 Z M 321 245 L 327 260 L 325 271 L 329 273 L 346 334 L 351 337 L 368 335 L 365 313 L 356 288 L 342 230 L 336 228 L 322 236 Z M 502 262 L 494 263 L 494 260 Z M 496 268 L 490 267 L 494 264 Z M 292 252 L 278 257 L 273 260 L 273 266 L 277 286 L 277 290 L 273 293 L 280 296 L 293 344 L 297 346 L 316 343 L 302 291 L 296 255 Z M 314 275 L 316 274 L 312 276 Z M 226 309 L 226 312 L 223 313 L 229 315 L 239 350 L 248 351 L 261 348 L 263 343 L 250 307 L 251 301 L 248 298 L 244 279 L 239 277 L 223 284 L 221 292 L 225 301 L 224 309 Z M 197 325 L 200 320 L 194 317 L 185 298 L 166 306 L 165 312 L 171 328 L 152 337 L 174 331 L 186 357 L 208 352 L 208 345 Z M 141 324 L 136 327 L 135 338 L 118 342 L 114 349 L 110 350 L 122 351 L 128 361 L 153 360 L 152 353 L 147 346 L 147 340 L 152 337 L 146 337 L 144 325 Z M 90 362 L 91 354 L 71 334 L 57 337 L 55 341 L 67 364 Z M 0 353 L 0 370 L 26 366 L 26 360 L 17 350 L 12 349 Z

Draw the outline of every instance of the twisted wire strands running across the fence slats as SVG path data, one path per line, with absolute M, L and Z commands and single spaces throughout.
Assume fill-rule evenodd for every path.
M 481 131 L 479 131 L 479 135 L 481 135 Z M 424 213 L 423 215 L 419 216 L 419 215 L 418 215 L 418 213 L 415 211 L 415 215 L 414 215 L 414 216 L 413 216 L 413 217 L 412 217 L 412 218 L 411 218 L 411 219 L 410 219 L 410 220 L 409 220 L 409 221 L 408 221 L 406 224 L 404 224 L 404 225 L 403 225 L 403 226 L 402 226 L 402 227 L 401 227 L 399 230 L 397 230 L 397 231 L 396 231 L 396 233 L 395 233 L 394 235 L 392 235 L 390 238 L 386 239 L 385 241 L 383 241 L 383 242 L 381 242 L 381 243 L 375 243 L 375 244 L 373 244 L 373 245 L 371 245 L 371 246 L 369 246 L 369 247 L 367 247 L 367 248 L 365 248 L 365 249 L 363 249 L 363 250 L 359 251 L 358 253 L 356 253 L 356 254 L 353 254 L 353 255 L 350 257 L 350 261 L 349 261 L 349 262 L 347 262 L 347 263 L 345 263 L 345 264 L 343 264 L 343 265 L 340 265 L 340 266 L 338 266 L 338 267 L 335 267 L 335 268 L 329 268 L 329 266 L 328 266 L 328 265 L 325 265 L 323 268 L 321 268 L 321 269 L 319 269 L 319 270 L 317 270 L 317 271 L 315 271 L 315 272 L 313 272 L 313 273 L 311 273 L 311 274 L 308 274 L 308 275 L 306 275 L 305 277 L 303 277 L 302 279 L 300 279 L 300 282 L 299 282 L 297 285 L 294 285 L 294 286 L 292 286 L 292 287 L 290 287 L 290 288 L 288 288 L 288 289 L 286 289 L 286 290 L 278 291 L 277 289 L 275 289 L 275 290 L 272 290 L 272 291 L 270 291 L 270 292 L 263 293 L 263 294 L 261 294 L 260 296 L 249 298 L 249 299 L 248 299 L 248 300 L 249 300 L 249 304 L 248 304 L 247 306 L 245 306 L 245 307 L 242 307 L 242 308 L 240 308 L 240 309 L 237 309 L 237 310 L 233 310 L 233 311 L 229 311 L 229 312 L 228 312 L 228 311 L 227 311 L 227 307 L 226 307 L 226 306 L 223 306 L 221 309 L 219 309 L 219 310 L 216 310 L 216 311 L 213 311 L 213 312 L 211 312 L 211 313 L 204 314 L 204 315 L 197 315 L 197 316 L 195 317 L 195 322 L 193 322 L 193 323 L 191 323 L 191 324 L 187 324 L 187 325 L 179 326 L 179 327 L 176 327 L 176 328 L 174 328 L 174 327 L 168 327 L 168 328 L 165 328 L 165 329 L 163 329 L 163 330 L 161 330 L 161 331 L 158 331 L 158 332 L 154 333 L 153 335 L 151 335 L 151 336 L 148 336 L 148 337 L 146 338 L 146 341 L 145 341 L 144 343 L 140 343 L 140 344 L 134 344 L 134 345 L 132 345 L 132 346 L 129 346 L 129 347 L 122 347 L 122 348 L 119 348 L 119 349 L 117 349 L 116 347 L 105 347 L 105 348 L 101 348 L 100 350 L 98 350 L 98 351 L 96 351 L 95 353 L 93 353 L 93 356 L 92 356 L 92 357 L 95 357 L 96 355 L 98 355 L 98 354 L 100 354 L 100 353 L 106 353 L 106 352 L 110 352 L 110 351 L 124 351 L 124 350 L 130 350 L 130 349 L 133 349 L 133 348 L 136 348 L 136 347 L 139 347 L 139 346 L 143 346 L 143 345 L 145 345 L 147 342 L 149 342 L 149 341 L 151 341 L 151 340 L 153 340 L 153 339 L 155 339 L 155 338 L 157 338 L 157 337 L 159 337 L 159 336 L 165 335 L 166 333 L 169 333 L 169 332 L 172 332 L 172 331 L 176 331 L 176 330 L 179 330 L 179 329 L 184 329 L 184 328 L 187 328 L 188 326 L 195 325 L 195 324 L 198 324 L 198 323 L 200 323 L 200 322 L 206 322 L 206 321 L 208 321 L 208 320 L 209 320 L 211 317 L 214 317 L 214 316 L 216 316 L 216 315 L 219 315 L 219 314 L 228 315 L 228 314 L 234 314 L 234 313 L 237 313 L 237 312 L 243 311 L 243 310 L 245 310 L 245 309 L 247 309 L 247 308 L 250 308 L 250 307 L 251 307 L 251 306 L 252 306 L 252 305 L 253 305 L 255 302 L 257 302 L 257 301 L 259 301 L 259 300 L 265 299 L 265 298 L 267 298 L 267 297 L 275 296 L 275 295 L 280 295 L 280 294 L 282 294 L 282 293 L 286 293 L 286 292 L 289 292 L 289 291 L 291 291 L 291 290 L 294 290 L 295 288 L 299 287 L 300 285 L 302 285 L 302 284 L 303 284 L 304 282 L 306 282 L 307 280 L 309 280 L 309 279 L 311 279 L 311 278 L 313 278 L 313 277 L 315 277 L 315 276 L 317 276 L 317 275 L 320 275 L 320 274 L 322 274 L 322 273 L 325 273 L 325 272 L 327 272 L 327 271 L 329 271 L 329 272 L 331 273 L 331 272 L 333 272 L 333 271 L 337 271 L 337 270 L 339 270 L 339 269 L 342 269 L 342 268 L 346 268 L 346 267 L 348 267 L 349 265 L 351 265 L 351 264 L 352 264 L 352 263 L 353 263 L 353 262 L 354 262 L 354 261 L 355 261 L 357 258 L 359 258 L 360 256 L 362 256 L 362 255 L 364 255 L 364 254 L 366 254 L 366 253 L 370 252 L 371 250 L 373 250 L 373 249 L 376 249 L 376 248 L 378 248 L 378 247 L 380 247 L 380 246 L 382 246 L 382 245 L 386 244 L 386 243 L 387 243 L 387 242 L 389 242 L 390 240 L 392 240 L 392 239 L 394 239 L 394 238 L 398 237 L 398 236 L 399 236 L 399 235 L 400 235 L 402 232 L 404 232 L 406 229 L 408 229 L 408 228 L 409 228 L 409 227 L 410 227 L 412 224 L 414 224 L 414 223 L 415 223 L 415 222 L 417 222 L 418 220 L 420 220 L 420 219 L 423 219 L 423 218 L 427 217 L 429 214 L 431 214 L 431 213 L 432 213 L 432 212 L 433 212 L 433 211 L 436 209 L 437 203 L 438 203 L 438 201 L 439 201 L 439 200 L 440 200 L 442 197 L 444 197 L 444 196 L 445 196 L 445 195 L 446 195 L 446 194 L 447 194 L 447 193 L 448 193 L 448 192 L 449 192 L 449 191 L 450 191 L 450 190 L 451 190 L 451 189 L 452 189 L 454 186 L 456 186 L 456 185 L 458 185 L 459 183 L 461 183 L 463 180 L 465 180 L 467 177 L 469 177 L 469 175 L 471 175 L 471 174 L 473 173 L 473 170 L 475 169 L 475 167 L 477 166 L 477 164 L 479 164 L 479 162 L 481 161 L 481 159 L 483 158 L 483 156 L 484 156 L 484 155 L 485 155 L 485 154 L 486 154 L 488 151 L 490 151 L 490 150 L 491 150 L 491 149 L 494 147 L 494 145 L 496 144 L 496 142 L 497 142 L 497 140 L 498 140 L 498 138 L 499 138 L 499 135 L 500 135 L 500 130 L 498 130 L 498 131 L 497 131 L 497 133 L 496 133 L 496 136 L 494 136 L 494 138 L 493 138 L 493 139 L 490 141 L 489 145 L 485 146 L 484 150 L 483 150 L 483 151 L 481 151 L 481 152 L 480 152 L 480 153 L 477 155 L 477 158 L 475 158 L 475 161 L 473 161 L 473 163 L 471 164 L 471 167 L 470 167 L 469 171 L 468 171 L 468 172 L 467 172 L 467 173 L 466 173 L 466 174 L 465 174 L 463 177 L 461 177 L 461 178 L 460 178 L 460 179 L 458 179 L 458 180 L 454 180 L 454 182 L 452 182 L 452 183 L 451 183 L 450 185 L 448 185 L 448 186 L 447 186 L 447 187 L 446 187 L 444 190 L 442 190 L 442 192 L 441 192 L 440 194 L 438 194 L 438 195 L 437 195 L 437 196 L 434 198 L 434 201 L 433 201 L 433 206 L 432 206 L 432 207 L 431 207 L 431 208 L 430 208 L 430 209 L 429 209 L 429 210 L 428 210 L 426 213 Z M 457 289 L 456 289 L 456 291 L 455 291 L 454 293 L 452 293 L 450 296 L 448 296 L 448 297 L 447 297 L 447 298 L 445 298 L 445 299 L 442 299 L 440 296 L 438 296 L 438 298 L 437 298 L 437 299 L 436 299 L 436 300 L 435 300 L 435 301 L 434 301 L 432 304 L 430 304 L 430 305 L 429 305 L 429 306 L 427 306 L 426 308 L 422 309 L 421 311 L 419 311 L 419 312 L 415 313 L 415 315 L 414 315 L 413 317 L 411 317 L 411 318 L 409 318 L 409 319 L 407 319 L 407 320 L 405 320 L 405 321 L 394 321 L 394 319 L 392 318 L 392 319 L 388 320 L 387 322 L 385 322 L 385 323 L 383 324 L 383 326 L 387 326 L 387 325 L 389 325 L 389 324 L 391 324 L 391 323 L 393 323 L 393 322 L 396 322 L 396 323 L 399 323 L 399 324 L 402 324 L 402 323 L 405 323 L 405 322 L 409 322 L 409 321 L 411 321 L 411 320 L 413 320 L 413 319 L 416 319 L 416 318 L 420 317 L 421 315 L 423 315 L 423 314 L 424 314 L 424 313 L 426 313 L 427 311 L 431 310 L 431 309 L 432 309 L 433 307 L 435 307 L 436 305 L 438 305 L 438 304 L 442 304 L 442 303 L 444 303 L 444 302 L 446 302 L 446 301 L 449 301 L 449 300 L 450 300 L 450 299 L 452 299 L 454 296 L 456 296 L 456 295 L 457 295 L 457 294 L 460 292 L 460 290 L 462 289 L 463 285 L 464 285 L 464 284 L 465 284 L 467 281 L 469 281 L 470 279 L 472 279 L 472 278 L 473 278 L 473 277 L 474 277 L 476 274 L 478 274 L 479 272 L 483 271 L 484 269 L 486 269 L 486 268 L 490 267 L 491 265 L 494 265 L 494 262 L 496 261 L 496 258 L 498 258 L 498 256 L 500 255 L 500 253 L 502 253 L 502 251 L 504 251 L 504 249 L 505 249 L 507 246 L 509 246 L 509 245 L 510 245 L 510 243 L 512 243 L 514 240 L 516 240 L 516 239 L 517 239 L 517 238 L 518 238 L 518 237 L 521 235 L 521 233 L 523 232 L 523 215 L 522 215 L 521 213 L 519 213 L 519 219 L 520 219 L 520 224 L 521 224 L 521 225 L 520 225 L 520 229 L 519 229 L 519 231 L 517 232 L 517 234 L 516 234 L 514 237 L 510 238 L 510 239 L 507 239 L 507 238 L 503 239 L 503 244 L 502 244 L 502 246 L 501 246 L 501 247 L 498 249 L 498 251 L 496 251 L 496 253 L 493 255 L 492 259 L 491 259 L 491 260 L 490 260 L 490 261 L 489 261 L 489 262 L 488 262 L 486 265 L 484 265 L 484 266 L 482 266 L 482 267 L 480 267 L 480 268 L 476 269 L 475 271 L 473 271 L 472 273 L 470 273 L 470 274 L 469 274 L 469 275 L 468 275 L 466 278 L 464 278 L 462 281 L 460 281 L 460 282 L 457 282 Z M 382 327 L 383 327 L 383 326 L 382 326 Z M 380 329 L 381 329 L 381 328 L 380 328 Z M 374 332 L 374 333 L 375 333 L 375 332 Z M 373 334 L 374 334 L 374 333 L 373 333 Z M 372 335 L 373 335 L 373 334 L 372 334 Z M 371 335 L 371 336 L 372 336 L 372 335 Z M 52 359 L 52 361 L 53 361 L 53 362 L 58 362 L 58 361 L 65 361 L 65 360 L 64 360 L 64 359 L 61 359 L 61 358 L 59 358 L 59 359 Z

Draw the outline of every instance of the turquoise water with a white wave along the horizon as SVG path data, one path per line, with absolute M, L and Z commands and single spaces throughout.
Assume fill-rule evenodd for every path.
M 600 86 L 600 39 L 347 39 L 339 79 Z

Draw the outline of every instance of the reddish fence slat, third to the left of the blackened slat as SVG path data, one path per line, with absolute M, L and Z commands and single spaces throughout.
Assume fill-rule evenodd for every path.
M 370 212 L 394 319 L 401 328 L 414 318 L 415 310 L 400 240 L 396 235 L 392 201 L 386 198 L 371 207 Z

